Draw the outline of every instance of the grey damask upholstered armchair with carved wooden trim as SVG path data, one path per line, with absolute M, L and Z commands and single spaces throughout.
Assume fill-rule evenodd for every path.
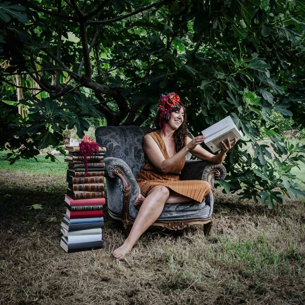
M 142 140 L 151 132 L 150 127 L 103 126 L 95 131 L 96 142 L 106 147 L 105 177 L 107 189 L 108 213 L 114 219 L 123 222 L 127 236 L 132 228 L 140 206 L 134 205 L 140 188 L 135 178 L 144 167 Z M 191 138 L 192 135 L 190 135 Z M 222 164 L 185 158 L 181 171 L 181 180 L 205 180 L 211 185 L 210 195 L 202 203 L 165 203 L 159 218 L 152 224 L 171 230 L 180 230 L 191 224 L 203 224 L 205 235 L 212 227 L 214 203 L 214 178 L 224 179 L 226 169 Z

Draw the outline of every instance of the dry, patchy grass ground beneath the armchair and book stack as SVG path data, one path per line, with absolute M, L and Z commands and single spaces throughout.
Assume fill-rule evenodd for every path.
M 305 302 L 304 201 L 268 210 L 218 190 L 210 237 L 200 225 L 150 228 L 116 261 L 124 234 L 107 211 L 103 249 L 66 254 L 59 247 L 64 177 L 2 171 L 0 179 L 1 304 Z M 24 208 L 34 203 L 44 209 Z

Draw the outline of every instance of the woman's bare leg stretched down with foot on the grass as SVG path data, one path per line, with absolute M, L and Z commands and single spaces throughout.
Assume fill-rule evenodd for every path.
M 125 256 L 137 242 L 143 232 L 153 224 L 162 213 L 164 204 L 169 197 L 169 189 L 164 185 L 156 185 L 143 200 L 138 215 L 131 228 L 131 231 L 125 239 L 122 246 L 113 251 L 113 256 L 117 259 Z

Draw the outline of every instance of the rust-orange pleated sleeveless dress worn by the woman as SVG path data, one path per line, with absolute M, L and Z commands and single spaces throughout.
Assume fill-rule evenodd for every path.
M 161 130 L 153 131 L 149 133 L 160 147 L 161 152 L 165 159 L 169 159 L 170 156 L 167 153 L 165 142 L 162 138 Z M 185 137 L 186 145 L 186 137 Z M 144 151 L 144 149 L 143 149 Z M 176 154 L 176 149 L 174 154 Z M 201 203 L 203 198 L 210 194 L 210 184 L 207 181 L 202 180 L 180 180 L 179 174 L 185 164 L 185 158 L 183 158 L 170 172 L 163 174 L 149 161 L 144 151 L 145 166 L 139 171 L 136 181 L 141 190 L 141 194 L 145 197 L 147 192 L 156 185 L 164 185 L 171 190 L 182 194 L 186 197 L 192 198 L 198 203 Z

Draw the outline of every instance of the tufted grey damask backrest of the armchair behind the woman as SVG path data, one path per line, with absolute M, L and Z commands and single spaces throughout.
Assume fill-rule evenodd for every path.
M 137 178 L 138 172 L 144 167 L 142 141 L 151 132 L 150 127 L 102 126 L 95 130 L 96 143 L 106 147 L 106 157 L 124 160 Z

